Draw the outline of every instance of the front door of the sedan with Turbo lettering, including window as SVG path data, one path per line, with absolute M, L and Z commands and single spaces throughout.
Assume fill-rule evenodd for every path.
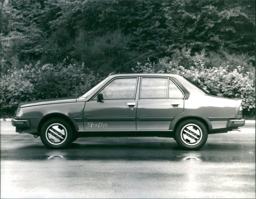
M 84 130 L 86 131 L 131 131 L 136 130 L 137 101 L 135 92 L 138 77 L 116 78 L 100 93 L 85 103 Z

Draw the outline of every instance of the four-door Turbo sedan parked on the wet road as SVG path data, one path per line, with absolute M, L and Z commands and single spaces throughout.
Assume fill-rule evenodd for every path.
M 208 134 L 240 131 L 242 111 L 242 99 L 212 96 L 177 74 L 115 74 L 82 96 L 20 103 L 12 125 L 53 149 L 78 137 L 155 136 L 195 150 Z

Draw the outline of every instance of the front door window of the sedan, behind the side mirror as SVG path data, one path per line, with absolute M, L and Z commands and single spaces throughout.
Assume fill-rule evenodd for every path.
M 122 78 L 111 81 L 101 91 L 103 99 L 133 99 L 136 82 L 137 78 Z

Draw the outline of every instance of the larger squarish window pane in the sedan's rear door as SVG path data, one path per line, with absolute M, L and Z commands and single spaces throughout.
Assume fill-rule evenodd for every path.
M 167 78 L 143 77 L 140 98 L 166 98 L 167 82 Z

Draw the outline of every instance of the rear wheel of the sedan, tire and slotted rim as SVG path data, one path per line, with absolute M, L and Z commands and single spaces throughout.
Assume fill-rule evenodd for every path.
M 181 122 L 175 131 L 174 139 L 183 149 L 200 149 L 208 138 L 205 125 L 196 119 L 188 119 Z

